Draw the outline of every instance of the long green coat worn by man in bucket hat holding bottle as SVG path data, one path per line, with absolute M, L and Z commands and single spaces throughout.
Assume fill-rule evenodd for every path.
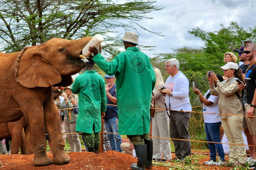
M 149 108 L 155 86 L 155 73 L 149 57 L 137 47 L 129 47 L 112 62 L 101 54 L 92 59 L 106 74 L 116 77 L 118 133 L 142 135 L 149 133 Z

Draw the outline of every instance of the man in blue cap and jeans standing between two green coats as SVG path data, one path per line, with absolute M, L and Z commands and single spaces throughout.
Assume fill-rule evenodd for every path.
M 117 98 L 116 98 L 116 84 L 114 83 L 115 75 L 104 76 L 107 86 L 106 86 L 106 94 L 107 94 L 107 111 L 105 113 L 104 123 L 106 125 L 106 130 L 108 134 L 108 139 L 110 142 L 110 146 L 112 150 L 122 152 L 121 143 L 122 138 L 119 134 L 111 134 L 118 133 L 118 127 L 116 124 L 117 119 Z

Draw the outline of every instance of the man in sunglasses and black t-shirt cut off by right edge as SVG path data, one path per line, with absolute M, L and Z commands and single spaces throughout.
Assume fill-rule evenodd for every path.
M 238 85 L 239 88 L 244 89 L 246 87 L 246 105 L 245 105 L 245 114 L 249 117 L 246 117 L 246 121 L 248 124 L 248 129 L 251 134 L 254 135 L 254 138 L 256 137 L 256 44 L 251 39 L 246 39 L 243 41 L 244 43 L 244 56 L 247 61 L 250 62 L 250 66 L 247 68 L 247 71 L 245 73 L 245 82 L 246 86 L 244 84 Z M 255 159 L 255 155 L 252 156 L 252 159 Z M 254 160 L 255 162 L 255 160 Z M 254 166 L 254 164 L 252 165 Z

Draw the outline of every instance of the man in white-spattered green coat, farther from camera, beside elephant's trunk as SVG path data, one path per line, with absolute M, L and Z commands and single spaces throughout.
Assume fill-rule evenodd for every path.
M 83 132 L 86 149 L 98 152 L 100 146 L 101 114 L 107 109 L 105 80 L 93 70 L 94 62 L 86 62 L 86 71 L 78 75 L 72 86 L 79 93 L 76 131 Z

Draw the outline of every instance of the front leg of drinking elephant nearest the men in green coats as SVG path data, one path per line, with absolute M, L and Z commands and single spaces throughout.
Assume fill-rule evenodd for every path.
M 54 164 L 67 164 L 70 161 L 70 157 L 64 150 L 65 141 L 60 130 L 59 110 L 53 100 L 48 105 L 44 107 L 44 120 L 46 131 L 52 143 L 53 162 Z

